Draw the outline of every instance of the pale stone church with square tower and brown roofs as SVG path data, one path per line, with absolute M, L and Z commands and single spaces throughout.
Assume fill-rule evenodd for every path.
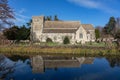
M 31 25 L 31 40 L 63 43 L 68 37 L 71 44 L 95 41 L 95 28 L 91 24 L 81 24 L 79 21 L 45 21 L 44 16 L 33 16 Z

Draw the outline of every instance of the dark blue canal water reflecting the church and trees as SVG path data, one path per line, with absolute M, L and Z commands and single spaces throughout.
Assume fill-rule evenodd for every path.
M 0 80 L 120 80 L 120 58 L 0 55 Z

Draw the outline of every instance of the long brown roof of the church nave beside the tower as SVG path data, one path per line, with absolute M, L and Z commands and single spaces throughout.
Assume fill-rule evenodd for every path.
M 79 21 L 45 21 L 43 33 L 75 33 L 79 27 Z

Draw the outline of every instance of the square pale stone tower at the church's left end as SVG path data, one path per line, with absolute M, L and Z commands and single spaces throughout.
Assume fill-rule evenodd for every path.
M 44 24 L 44 16 L 33 16 L 31 24 L 31 41 L 40 41 Z

